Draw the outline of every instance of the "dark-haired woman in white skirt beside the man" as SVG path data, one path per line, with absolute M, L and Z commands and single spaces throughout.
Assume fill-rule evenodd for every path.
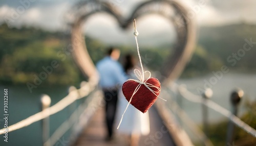
M 135 61 L 132 55 L 126 55 L 124 58 L 124 71 L 130 79 L 136 79 L 134 75 Z M 138 79 L 136 79 L 138 80 Z M 121 116 L 128 104 L 128 101 L 125 99 L 122 90 L 118 93 L 118 104 L 117 104 L 117 123 L 119 123 Z M 138 145 L 139 137 L 141 135 L 147 135 L 150 133 L 150 119 L 148 116 L 148 111 L 142 113 L 136 109 L 133 105 L 129 105 L 127 108 L 122 123 L 117 130 L 120 134 L 125 134 L 129 136 L 130 143 L 133 146 Z

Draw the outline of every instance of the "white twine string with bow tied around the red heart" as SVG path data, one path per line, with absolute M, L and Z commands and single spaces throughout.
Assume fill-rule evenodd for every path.
M 135 75 L 139 80 L 135 80 L 135 79 L 129 79 L 129 80 L 127 80 L 127 81 L 135 81 L 135 82 L 139 83 L 139 85 L 135 88 L 135 90 L 134 90 L 134 92 L 133 92 L 133 94 L 132 94 L 132 96 L 131 96 L 131 99 L 129 100 L 129 103 L 127 104 L 127 106 L 126 106 L 126 108 L 125 108 L 125 110 L 124 110 L 124 112 L 123 112 L 123 114 L 122 114 L 122 117 L 121 117 L 121 120 L 120 120 L 120 122 L 119 122 L 119 124 L 118 124 L 117 129 L 119 129 L 119 127 L 120 127 L 120 125 L 121 125 L 121 123 L 122 123 L 123 115 L 124 115 L 124 113 L 126 112 L 128 106 L 131 104 L 132 99 L 133 99 L 133 96 L 137 93 L 137 91 L 139 90 L 139 88 L 141 87 L 142 84 L 143 84 L 148 90 L 150 90 L 152 93 L 154 93 L 158 98 L 160 98 L 156 93 L 159 93 L 159 92 L 161 91 L 161 88 L 160 88 L 160 87 L 157 87 L 157 86 L 155 86 L 155 85 L 152 85 L 152 84 L 150 84 L 150 83 L 146 83 L 146 81 L 147 81 L 148 79 L 150 79 L 150 77 L 151 77 L 151 72 L 148 71 L 148 70 L 146 70 L 146 71 L 143 70 L 143 66 L 142 66 L 142 62 L 141 62 L 141 57 L 140 57 L 140 52 L 139 52 L 139 44 L 138 44 L 138 40 L 137 40 L 137 36 L 139 35 L 139 33 L 138 33 L 138 31 L 136 30 L 136 21 L 135 21 L 135 19 L 133 20 L 133 22 L 134 22 L 134 36 L 135 36 L 135 40 L 136 40 L 137 52 L 138 52 L 138 56 L 139 56 L 139 60 L 140 60 L 140 66 L 141 66 L 142 74 L 141 74 L 141 72 L 140 72 L 139 69 L 134 69 L 134 75 Z M 146 74 L 146 73 L 148 73 L 149 76 L 148 76 L 148 78 L 144 81 L 144 74 Z M 157 91 L 154 91 L 152 88 L 156 88 Z M 162 99 L 162 98 L 160 98 L 160 99 Z M 164 99 L 162 99 L 162 100 L 164 100 Z M 166 100 L 164 100 L 164 101 L 166 102 Z

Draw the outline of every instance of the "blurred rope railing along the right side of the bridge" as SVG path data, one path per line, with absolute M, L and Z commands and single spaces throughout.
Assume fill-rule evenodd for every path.
M 179 93 L 182 95 L 182 97 L 185 98 L 186 100 L 190 101 L 190 102 L 204 104 L 205 106 L 207 106 L 207 107 L 215 110 L 216 112 L 226 116 L 230 121 L 232 121 L 233 124 L 235 124 L 236 126 L 241 128 L 245 132 L 249 133 L 253 137 L 256 137 L 256 130 L 255 129 L 253 129 L 252 127 L 250 127 L 246 123 L 244 123 L 244 121 L 242 121 L 239 117 L 232 114 L 230 111 L 223 108 L 219 104 L 217 104 L 217 103 L 215 103 L 211 100 L 207 100 L 207 102 L 206 102 L 205 100 L 202 100 L 201 96 L 196 95 L 196 94 L 188 91 L 186 89 L 186 87 L 184 87 L 182 85 L 178 85 L 176 83 L 174 83 L 172 86 L 169 86 L 168 88 L 170 90 L 174 91 L 175 93 L 177 93 L 177 90 L 179 90 Z

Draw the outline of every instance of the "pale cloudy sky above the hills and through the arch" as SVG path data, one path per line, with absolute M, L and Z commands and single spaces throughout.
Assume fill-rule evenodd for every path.
M 118 3 L 116 6 L 123 16 L 131 13 L 136 5 L 144 1 L 138 0 L 104 0 Z M 55 31 L 66 29 L 65 15 L 72 10 L 72 6 L 79 2 L 68 0 L 2 0 L 0 1 L 0 23 L 8 22 L 10 27 L 33 26 L 42 29 Z M 181 0 L 179 1 L 189 12 L 193 13 L 199 27 L 222 26 L 232 23 L 247 22 L 256 23 L 256 1 L 227 1 L 227 0 Z M 18 12 L 18 13 L 17 13 Z M 16 15 L 15 15 L 16 14 Z M 102 25 L 104 24 L 104 25 Z M 150 24 L 150 25 L 148 25 Z M 146 16 L 138 22 L 138 29 L 142 36 L 153 37 L 155 41 L 175 40 L 175 30 L 168 24 L 168 21 L 159 16 Z M 129 31 L 120 29 L 112 17 L 104 14 L 97 14 L 87 21 L 84 32 L 96 38 L 106 39 L 111 42 L 116 38 L 120 43 L 125 39 L 130 40 Z M 104 36 L 102 35 L 104 34 Z M 154 34 L 154 35 L 153 35 Z M 168 35 L 169 37 L 161 37 Z M 105 37 L 105 36 L 108 37 Z M 157 39 L 164 38 L 164 39 Z M 116 41 L 115 39 L 115 41 Z M 122 41 L 121 41 L 122 40 Z M 145 40 L 141 40 L 142 42 Z M 126 43 L 130 43 L 127 41 Z M 150 43 L 147 41 L 147 43 Z

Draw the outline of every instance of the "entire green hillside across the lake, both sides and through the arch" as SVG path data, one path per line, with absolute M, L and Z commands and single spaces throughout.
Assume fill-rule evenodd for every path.
M 221 70 L 226 65 L 230 70 L 255 72 L 256 26 L 248 24 L 201 28 L 198 44 L 181 77 L 196 77 Z M 247 40 L 245 40 L 247 39 Z M 246 44 L 247 41 L 251 44 Z M 106 45 L 100 40 L 86 37 L 88 52 L 96 63 L 104 57 Z M 0 82 L 26 84 L 44 72 L 44 67 L 57 61 L 58 67 L 43 80 L 42 84 L 74 84 L 82 78 L 72 60 L 68 47 L 69 34 L 47 32 L 35 28 L 8 28 L 0 26 Z M 134 45 L 134 44 L 133 44 Z M 133 51 L 134 46 L 118 45 L 122 54 Z M 246 48 L 243 48 L 245 45 Z M 169 44 L 141 47 L 142 61 L 152 70 L 158 70 L 170 53 Z M 161 51 L 159 50 L 161 48 Z M 250 50 L 249 50 L 250 49 Z M 249 51 L 248 51 L 249 50 Z M 120 60 L 122 61 L 122 59 Z M 46 71 L 45 71 L 46 72 Z M 41 74 L 41 77 L 43 75 Z M 63 80 L 65 79 L 65 80 Z

